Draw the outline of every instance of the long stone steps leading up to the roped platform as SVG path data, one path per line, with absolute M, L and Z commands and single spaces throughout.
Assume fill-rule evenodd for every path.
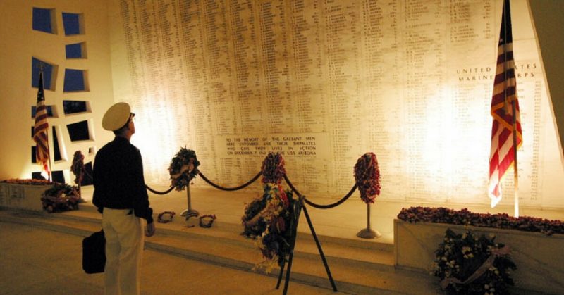
M 82 206 L 80 211 L 51 214 L 4 210 L 0 211 L 0 221 L 24 223 L 84 237 L 100 230 L 102 224 L 101 215 L 87 206 Z M 240 235 L 241 225 L 216 220 L 213 227 L 202 228 L 196 223 L 195 220 L 185 222 L 180 216 L 176 216 L 173 222 L 157 223 L 157 234 L 145 240 L 145 247 L 243 271 L 252 271 L 255 263 L 262 261 L 262 254 L 254 241 Z M 195 226 L 189 227 L 191 225 Z M 351 294 L 436 294 L 432 276 L 394 268 L 393 247 L 389 245 L 335 237 L 318 238 L 338 291 Z M 278 273 L 279 269 L 274 268 L 269 275 L 277 277 Z M 311 234 L 298 234 L 290 280 L 331 289 Z M 289 291 L 291 287 L 290 283 Z

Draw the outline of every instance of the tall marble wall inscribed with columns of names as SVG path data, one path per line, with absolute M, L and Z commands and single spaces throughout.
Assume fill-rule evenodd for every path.
M 512 4 L 521 204 L 564 207 L 527 2 Z M 357 158 L 372 151 L 382 199 L 489 203 L 500 0 L 114 0 L 111 8 L 113 57 L 127 61 L 114 63 L 114 92 L 139 110 L 133 142 L 148 182 L 168 182 L 180 146 L 226 186 L 279 151 L 300 192 L 337 198 L 353 186 Z M 513 202 L 512 180 L 502 204 Z

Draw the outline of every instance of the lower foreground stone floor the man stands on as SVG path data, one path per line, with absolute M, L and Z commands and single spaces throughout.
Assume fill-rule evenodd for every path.
M 82 237 L 0 222 L 0 294 L 103 294 L 104 275 L 82 271 Z M 146 250 L 142 294 L 281 294 L 276 277 Z M 291 282 L 289 294 L 342 294 Z

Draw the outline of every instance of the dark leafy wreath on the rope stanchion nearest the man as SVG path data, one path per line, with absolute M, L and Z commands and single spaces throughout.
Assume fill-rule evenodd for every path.
M 172 158 L 168 172 L 171 175 L 171 184 L 177 191 L 183 190 L 200 171 L 200 161 L 196 158 L 195 151 L 181 148 Z

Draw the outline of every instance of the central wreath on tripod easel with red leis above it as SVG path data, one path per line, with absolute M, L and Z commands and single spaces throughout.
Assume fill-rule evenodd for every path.
M 264 261 L 257 263 L 254 270 L 271 272 L 274 266 L 281 266 L 285 254 L 293 244 L 292 232 L 298 200 L 290 190 L 285 191 L 280 184 L 286 173 L 284 161 L 279 153 L 269 153 L 262 163 L 262 196 L 245 206 L 243 215 L 243 236 L 255 239 Z

